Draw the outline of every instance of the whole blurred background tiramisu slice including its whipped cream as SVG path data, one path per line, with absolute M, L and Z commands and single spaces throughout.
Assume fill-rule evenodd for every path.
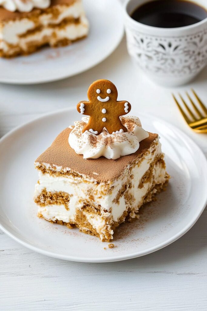
M 87 35 L 81 0 L 0 1 L 1 57 L 33 53 L 44 45 L 67 45 Z

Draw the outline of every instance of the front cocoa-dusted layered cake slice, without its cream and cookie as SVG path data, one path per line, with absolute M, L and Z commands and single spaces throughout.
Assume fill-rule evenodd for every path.
M 65 129 L 35 162 L 38 216 L 109 241 L 169 179 L 158 135 L 149 133 L 137 152 L 117 160 L 84 160 L 68 144 L 70 131 Z

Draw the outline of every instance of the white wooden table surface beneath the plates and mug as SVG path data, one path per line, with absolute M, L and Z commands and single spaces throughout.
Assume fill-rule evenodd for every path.
M 119 98 L 138 105 L 140 112 L 181 128 L 207 155 L 207 135 L 187 128 L 171 98 L 171 91 L 193 86 L 207 103 L 207 68 L 192 85 L 174 90 L 155 86 L 134 70 L 125 39 L 103 63 L 78 76 L 43 85 L 0 84 L 0 137 L 44 113 L 75 106 L 98 78 L 113 81 Z M 0 232 L 0 310 L 207 310 L 206 224 L 205 210 L 194 227 L 168 247 L 105 264 L 49 258 Z

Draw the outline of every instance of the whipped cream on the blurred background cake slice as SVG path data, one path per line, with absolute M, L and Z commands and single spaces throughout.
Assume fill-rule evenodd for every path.
M 0 0 L 0 6 L 11 12 L 30 12 L 34 7 L 46 9 L 50 0 Z

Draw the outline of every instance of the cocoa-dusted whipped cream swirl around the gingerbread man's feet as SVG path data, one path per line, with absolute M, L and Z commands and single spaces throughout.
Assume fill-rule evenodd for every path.
M 85 131 L 84 126 L 89 117 L 83 117 L 82 121 L 74 122 L 75 126 L 70 132 L 68 142 L 77 154 L 83 155 L 84 159 L 97 159 L 101 156 L 107 159 L 118 159 L 127 156 L 139 149 L 139 142 L 149 137 L 137 117 L 120 117 L 122 124 L 128 132 L 109 134 L 103 129 L 100 135 Z

